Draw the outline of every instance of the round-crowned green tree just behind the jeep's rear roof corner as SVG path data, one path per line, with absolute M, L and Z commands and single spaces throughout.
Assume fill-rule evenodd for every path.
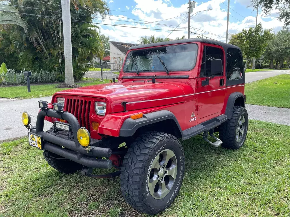
M 247 70 L 247 65 L 252 57 L 259 58 L 264 53 L 268 41 L 273 37 L 270 30 L 263 30 L 261 23 L 255 27 L 250 27 L 248 30 L 242 30 L 238 34 L 230 36 L 230 44 L 241 48 L 246 64 L 244 70 Z

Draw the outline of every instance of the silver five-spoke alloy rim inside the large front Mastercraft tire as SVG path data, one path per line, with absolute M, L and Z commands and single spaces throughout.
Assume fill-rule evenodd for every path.
M 151 163 L 148 189 L 155 199 L 164 198 L 171 190 L 177 175 L 177 160 L 173 151 L 162 150 Z

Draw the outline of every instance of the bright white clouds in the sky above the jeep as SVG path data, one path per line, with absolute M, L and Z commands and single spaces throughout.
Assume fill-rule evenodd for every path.
M 155 35 L 155 37 L 165 38 L 184 19 L 184 21 L 182 21 L 182 23 L 176 29 L 176 30 L 184 30 L 184 31 L 174 31 L 170 34 L 169 38 L 175 39 L 176 37 L 181 37 L 183 35 L 187 36 L 187 26 L 188 26 L 188 18 L 186 17 L 186 13 L 188 11 L 187 3 L 184 3 L 178 7 L 174 7 L 173 5 L 168 5 L 167 3 L 162 2 L 160 0 L 156 0 L 156 1 L 155 0 L 146 0 L 146 1 L 134 0 L 134 1 L 136 3 L 136 6 L 132 7 L 133 8 L 132 14 L 135 15 L 134 19 L 142 20 L 143 22 L 159 21 L 158 23 L 162 23 L 164 25 L 157 25 L 157 24 L 154 25 L 153 23 L 141 24 L 142 21 L 127 19 L 125 16 L 122 16 L 119 18 L 111 16 L 111 19 L 118 19 L 119 21 L 104 20 L 102 21 L 102 23 L 116 24 L 116 25 L 126 24 L 124 26 L 142 27 L 142 28 L 147 28 L 147 29 L 137 29 L 137 28 L 119 27 L 119 26 L 110 26 L 110 27 L 107 26 L 106 29 L 104 29 L 103 28 L 104 25 L 101 25 L 102 34 L 108 35 L 110 37 L 110 40 L 112 41 L 121 41 L 121 42 L 128 42 L 128 43 L 137 43 L 137 40 L 141 36 Z M 224 2 L 225 0 L 222 0 L 222 1 Z M 196 7 L 191 17 L 191 27 L 193 27 L 194 29 L 191 31 L 197 34 L 204 34 L 204 36 L 207 36 L 207 37 L 219 40 L 219 41 L 225 41 L 227 13 L 221 10 L 222 5 L 223 4 L 220 1 L 216 1 L 216 0 L 210 0 L 203 3 L 196 3 Z M 211 8 L 212 10 L 199 12 L 195 14 L 198 11 L 206 10 L 208 8 Z M 273 10 L 273 13 L 276 13 L 276 12 L 277 11 Z M 180 16 L 181 14 L 183 15 Z M 131 17 L 130 15 L 128 16 Z M 177 17 L 170 19 L 175 16 Z M 250 26 L 251 27 L 255 26 L 255 21 L 256 21 L 255 14 L 251 16 L 245 16 L 246 19 L 242 19 L 240 16 L 238 16 L 235 13 L 233 13 L 232 16 L 237 17 L 242 22 L 231 17 L 230 22 L 229 22 L 230 34 L 235 34 L 242 31 L 242 29 L 248 29 Z M 164 21 L 160 21 L 160 20 L 164 20 Z M 128 25 L 129 23 L 124 22 L 124 21 L 141 22 L 141 23 Z M 269 19 L 267 17 L 261 17 L 261 14 L 259 14 L 258 22 L 261 22 L 264 28 L 276 27 L 276 29 L 277 28 L 279 29 L 284 25 L 284 23 L 282 23 L 278 19 L 274 19 L 274 18 Z M 149 28 L 158 29 L 158 30 L 150 30 Z M 171 30 L 171 31 L 159 31 L 159 30 Z M 210 32 L 212 34 L 209 34 L 207 32 Z M 196 36 L 197 36 L 196 34 L 191 33 L 191 38 L 194 38 Z

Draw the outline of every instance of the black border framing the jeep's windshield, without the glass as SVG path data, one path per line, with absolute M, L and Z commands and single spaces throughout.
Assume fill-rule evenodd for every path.
M 157 47 L 146 47 L 146 48 L 142 48 L 142 49 L 132 49 L 130 50 L 127 55 L 126 55 L 126 58 L 124 60 L 124 63 L 123 63 L 123 67 L 122 67 L 122 72 L 123 73 L 137 73 L 137 70 L 132 70 L 132 71 L 124 71 L 124 68 L 126 67 L 126 61 L 128 59 L 128 56 L 130 56 L 132 54 L 132 52 L 134 51 L 139 51 L 139 50 L 147 50 L 147 49 L 158 49 L 158 48 L 164 48 L 164 47 L 170 47 L 170 46 L 176 46 L 176 45 L 192 45 L 192 44 L 195 44 L 197 46 L 197 49 L 196 49 L 196 55 L 195 55 L 195 63 L 193 65 L 193 67 L 191 69 L 179 69 L 179 70 L 169 70 L 169 72 L 187 72 L 187 71 L 191 71 L 195 68 L 196 64 L 197 64 L 197 58 L 198 58 L 198 52 L 199 52 L 199 44 L 196 43 L 196 42 L 191 42 L 191 43 L 180 43 L 180 44 L 171 44 L 171 45 L 163 45 L 163 46 L 157 46 Z M 164 70 L 138 70 L 139 73 L 157 73 L 157 72 L 165 72 L 165 69 Z

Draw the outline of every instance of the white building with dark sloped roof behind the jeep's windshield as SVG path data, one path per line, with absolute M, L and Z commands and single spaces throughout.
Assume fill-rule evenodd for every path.
M 121 70 L 128 49 L 130 47 L 137 46 L 138 44 L 123 43 L 117 41 L 109 41 L 109 43 L 111 69 Z

